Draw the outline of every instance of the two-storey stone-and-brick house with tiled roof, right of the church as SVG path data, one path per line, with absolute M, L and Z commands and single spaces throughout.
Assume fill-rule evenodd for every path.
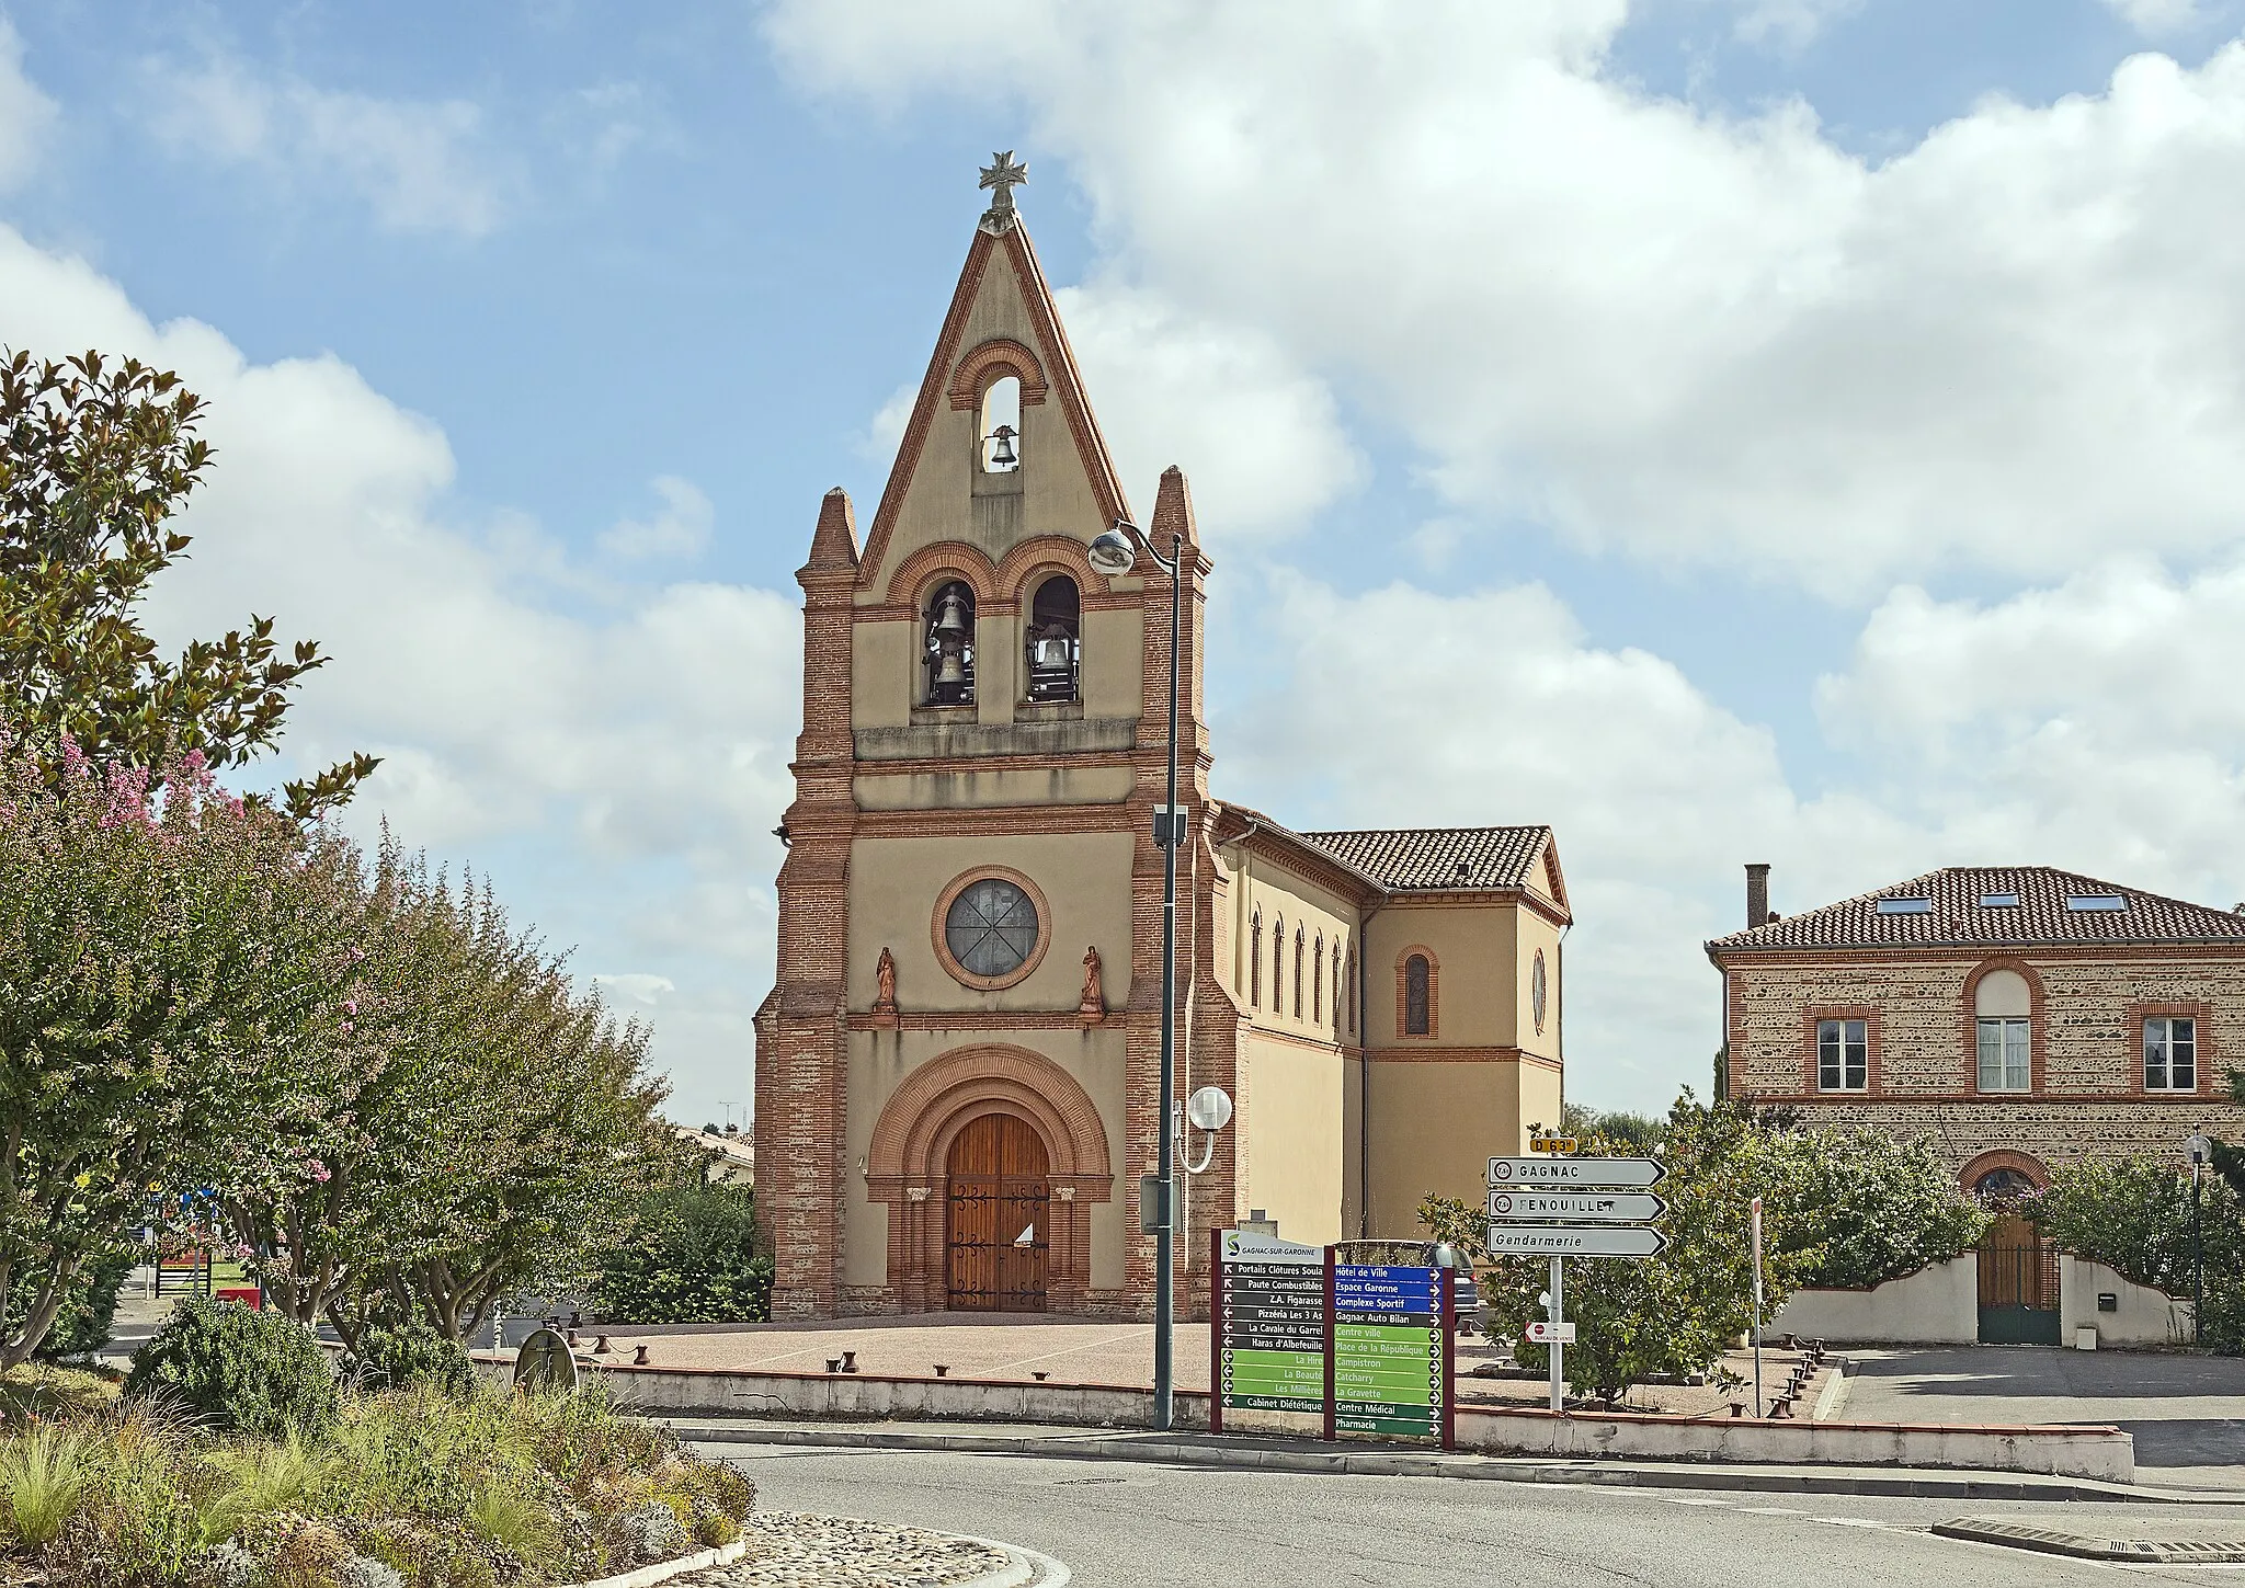
M 1778 915 L 1749 866 L 1747 920 L 1706 944 L 1733 1097 L 1931 1137 L 1991 1191 L 2245 1128 L 2245 906 L 1958 866 Z

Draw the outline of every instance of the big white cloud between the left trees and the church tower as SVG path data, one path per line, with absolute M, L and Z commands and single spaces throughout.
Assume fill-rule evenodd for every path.
M 797 603 L 606 585 L 532 525 L 456 523 L 442 431 L 339 359 L 249 363 L 209 325 L 150 325 L 114 283 L 4 227 L 0 343 L 132 352 L 204 397 L 218 460 L 150 617 L 173 644 L 251 610 L 321 641 L 330 664 L 267 776 L 384 756 L 346 812 L 355 830 L 388 816 L 406 843 L 489 873 L 555 949 L 635 967 L 602 985 L 626 1007 L 660 994 L 656 1059 L 689 1106 L 739 1095 L 743 1000 L 770 985 Z

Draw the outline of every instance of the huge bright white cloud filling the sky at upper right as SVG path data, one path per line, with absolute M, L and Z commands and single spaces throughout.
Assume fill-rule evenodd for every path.
M 806 83 L 1028 105 L 1105 271 L 1394 424 L 1464 509 L 1875 597 L 2202 556 L 2245 496 L 2245 45 L 1868 164 L 1603 74 L 1621 4 L 781 0 Z M 1030 195 L 1033 200 L 1033 195 Z M 1111 401 L 1102 397 L 1102 401 Z M 1190 464 L 1192 460 L 1188 460 Z M 1199 473 L 1199 469 L 1194 469 Z

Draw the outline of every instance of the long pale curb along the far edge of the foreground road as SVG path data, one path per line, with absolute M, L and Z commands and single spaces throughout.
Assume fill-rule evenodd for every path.
M 1877 1494 L 1951 1501 L 2122 1501 L 2135 1505 L 2236 1505 L 2238 1496 L 2135 1489 L 2088 1478 L 2003 1478 L 1985 1471 L 1895 1467 L 1893 1471 L 1814 1471 L 1702 1467 L 1695 1462 L 1533 1462 L 1461 1451 L 1378 1451 L 1161 1440 L 1147 1435 L 1021 1435 L 950 1429 L 801 1429 L 680 1424 L 687 1442 L 790 1444 L 815 1449 L 943 1451 L 956 1456 L 1042 1456 L 1046 1460 L 1127 1460 L 1246 1471 L 1311 1471 L 1385 1478 L 1477 1478 L 1484 1483 L 1605 1485 L 1639 1489 L 1740 1489 L 1751 1494 Z

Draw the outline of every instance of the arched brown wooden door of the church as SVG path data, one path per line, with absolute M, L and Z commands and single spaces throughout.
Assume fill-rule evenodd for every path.
M 961 1312 L 1044 1312 L 1044 1142 L 1015 1115 L 981 1115 L 945 1164 L 943 1270 Z

